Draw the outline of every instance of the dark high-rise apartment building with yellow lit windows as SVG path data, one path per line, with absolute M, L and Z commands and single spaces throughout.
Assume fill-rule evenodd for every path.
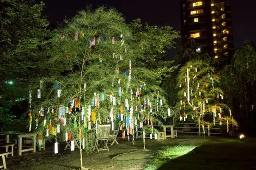
M 225 0 L 181 0 L 182 43 L 194 39 L 198 52 L 220 58 L 234 53 L 230 4 Z

